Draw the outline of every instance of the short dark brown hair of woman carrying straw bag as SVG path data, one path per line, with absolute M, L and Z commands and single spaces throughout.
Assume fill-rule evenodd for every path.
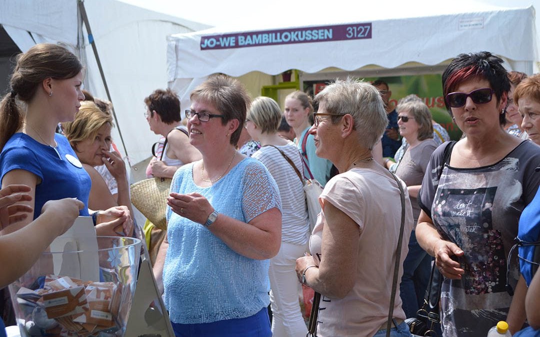
M 170 89 L 157 89 L 144 99 L 146 106 L 150 111 L 150 116 L 157 112 L 161 121 L 165 124 L 179 122 L 182 117 L 180 114 L 180 99 L 176 92 Z

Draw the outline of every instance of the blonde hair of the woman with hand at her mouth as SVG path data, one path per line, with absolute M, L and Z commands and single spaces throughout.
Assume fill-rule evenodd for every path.
M 77 143 L 93 139 L 98 133 L 98 129 L 105 124 L 113 126 L 111 114 L 102 111 L 94 102 L 83 101 L 80 102 L 75 120 L 62 123 L 62 128 L 71 147 L 76 149 Z

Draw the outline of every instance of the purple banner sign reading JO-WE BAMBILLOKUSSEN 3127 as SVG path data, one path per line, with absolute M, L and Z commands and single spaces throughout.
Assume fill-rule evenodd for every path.
M 201 50 L 372 38 L 371 23 L 302 27 L 201 36 Z

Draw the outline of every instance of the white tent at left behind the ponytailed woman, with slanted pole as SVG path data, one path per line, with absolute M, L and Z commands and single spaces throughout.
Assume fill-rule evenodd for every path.
M 0 0 L 0 25 L 23 52 L 41 42 L 69 47 L 85 64 L 86 90 L 107 99 L 77 3 Z M 151 155 L 151 144 L 158 138 L 150 132 L 143 116 L 143 100 L 153 90 L 166 86 L 166 36 L 206 29 L 208 25 L 117 0 L 86 0 L 84 6 L 118 118 L 119 125 L 112 130 L 113 139 L 129 155 L 132 164 L 140 162 Z M 4 43 L 0 41 L 0 55 Z M 3 60 L 0 57 L 0 65 L 9 65 L 11 59 L 11 55 L 4 55 Z M 125 149 L 118 129 L 122 131 Z

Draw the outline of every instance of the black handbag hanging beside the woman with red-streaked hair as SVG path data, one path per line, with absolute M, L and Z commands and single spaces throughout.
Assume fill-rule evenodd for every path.
M 424 304 L 422 305 L 422 308 L 416 312 L 416 317 L 405 320 L 412 334 L 418 336 L 438 336 L 435 327 L 441 322 L 438 303 L 441 298 L 442 281 L 442 274 L 437 270 L 435 264 L 433 264 Z M 436 291 L 432 292 L 431 290 Z

